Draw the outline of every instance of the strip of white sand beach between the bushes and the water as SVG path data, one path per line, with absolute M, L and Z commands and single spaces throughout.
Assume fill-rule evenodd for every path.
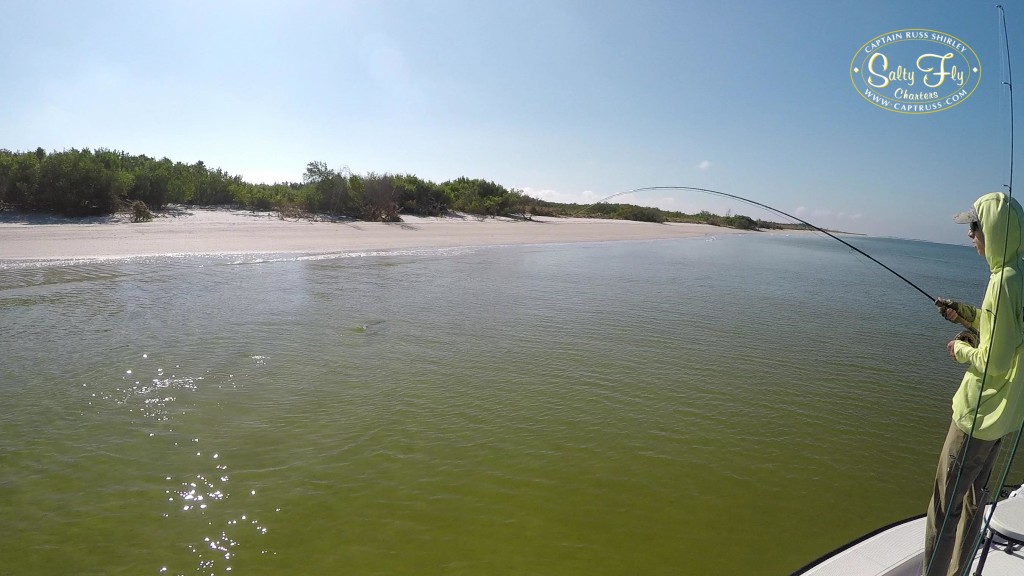
M 215 253 L 335 253 L 655 240 L 738 234 L 705 224 L 650 223 L 598 218 L 532 220 L 403 216 L 393 223 L 283 219 L 278 212 L 177 207 L 148 222 L 125 215 L 67 219 L 0 214 L 0 259 L 67 259 Z

